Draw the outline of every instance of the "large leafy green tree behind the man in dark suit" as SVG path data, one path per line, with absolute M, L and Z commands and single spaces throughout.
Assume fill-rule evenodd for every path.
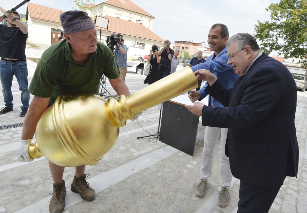
M 263 51 L 278 51 L 285 58 L 307 57 L 307 0 L 281 0 L 266 11 L 272 21 L 255 24 L 254 36 L 261 41 Z M 305 64 L 307 67 L 307 64 Z

